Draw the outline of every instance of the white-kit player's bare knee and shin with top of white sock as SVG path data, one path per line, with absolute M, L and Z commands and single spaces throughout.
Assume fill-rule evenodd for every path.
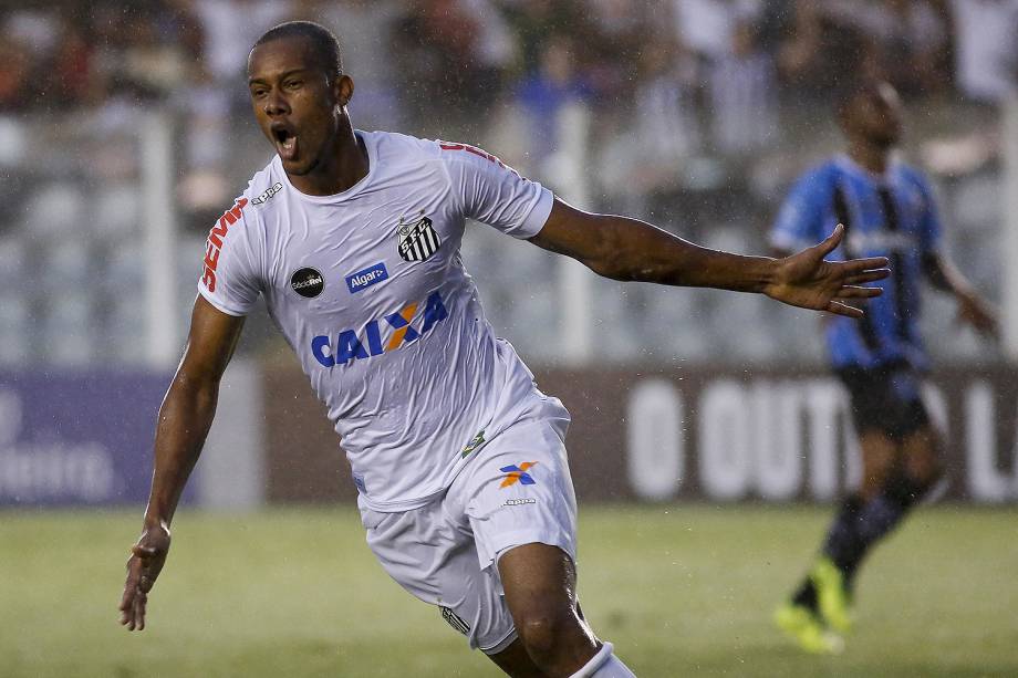
M 580 617 L 576 571 L 565 552 L 523 544 L 502 554 L 498 571 L 519 640 L 547 676 L 633 676 Z

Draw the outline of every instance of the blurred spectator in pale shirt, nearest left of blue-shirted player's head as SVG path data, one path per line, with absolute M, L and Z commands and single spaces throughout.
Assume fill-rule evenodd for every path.
M 757 44 L 750 21 L 736 24 L 731 50 L 709 66 L 714 143 L 725 154 L 746 154 L 779 138 L 778 81 L 773 58 Z

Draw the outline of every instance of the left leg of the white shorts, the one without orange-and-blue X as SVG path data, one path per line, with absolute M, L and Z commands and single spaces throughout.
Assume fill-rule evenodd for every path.
M 403 513 L 362 507 L 362 520 L 383 569 L 414 596 L 436 605 L 471 648 L 494 654 L 516 638 L 496 577 L 480 567 L 467 521 L 453 519 L 442 501 Z

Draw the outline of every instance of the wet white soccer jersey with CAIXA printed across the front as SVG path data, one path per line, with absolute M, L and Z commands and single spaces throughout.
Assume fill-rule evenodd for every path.
M 209 233 L 199 293 L 245 315 L 259 293 L 342 437 L 368 507 L 446 489 L 543 396 L 496 338 L 459 254 L 465 219 L 530 238 L 552 195 L 461 144 L 357 132 L 367 176 L 308 196 L 279 157 Z

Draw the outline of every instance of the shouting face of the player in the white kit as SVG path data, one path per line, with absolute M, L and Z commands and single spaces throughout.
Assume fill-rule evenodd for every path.
M 342 80 L 350 79 L 330 79 L 302 38 L 272 40 L 251 52 L 251 106 L 288 175 L 313 171 L 333 149 L 346 103 Z

